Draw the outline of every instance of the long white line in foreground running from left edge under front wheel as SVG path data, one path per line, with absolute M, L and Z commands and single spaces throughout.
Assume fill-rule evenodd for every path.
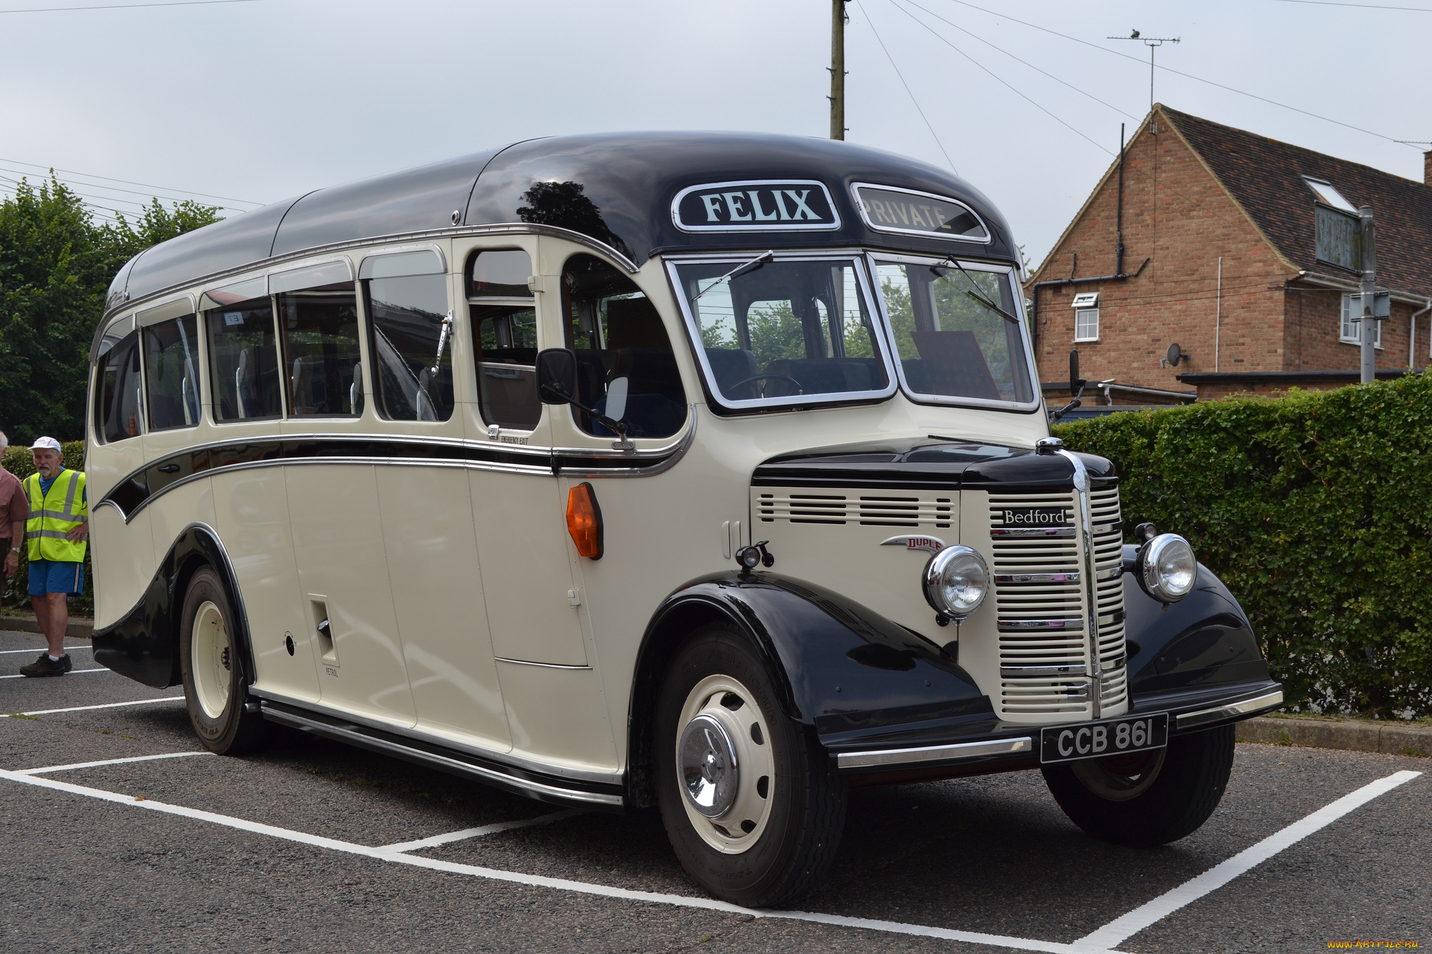
M 875 921 L 871 918 L 851 918 L 839 914 L 819 914 L 815 911 L 765 911 L 760 908 L 742 908 L 735 904 L 727 904 L 726 901 L 716 901 L 713 898 L 693 898 L 682 894 L 659 894 L 654 891 L 633 891 L 630 888 L 613 888 L 604 884 L 587 884 L 586 881 L 569 881 L 566 878 L 547 878 L 537 874 L 520 874 L 517 871 L 498 871 L 494 868 L 480 868 L 477 865 L 455 864 L 453 861 L 438 861 L 437 858 L 424 858 L 421 855 L 394 852 L 385 848 L 368 848 L 365 845 L 357 845 L 349 841 L 338 841 L 337 838 L 324 838 L 322 835 L 309 835 L 302 831 L 291 831 L 288 828 L 265 825 L 262 822 L 246 821 L 243 818 L 232 818 L 229 815 L 219 815 L 216 812 L 202 811 L 199 808 L 185 808 L 183 805 L 170 805 L 162 801 L 149 801 L 147 798 L 142 797 L 136 798 L 135 795 L 122 795 L 120 792 L 110 792 L 99 788 L 86 788 L 84 785 L 72 785 L 69 782 L 62 782 L 53 778 L 44 778 L 42 775 L 26 775 L 23 772 L 0 769 L 0 778 L 7 778 L 10 781 L 21 782 L 26 785 L 37 785 L 40 788 L 50 788 L 54 791 L 70 792 L 73 795 L 86 795 L 89 798 L 97 798 L 100 801 L 115 802 L 119 805 L 129 805 L 132 808 L 146 808 L 149 811 L 158 811 L 168 815 L 195 818 L 198 821 L 208 821 L 211 824 L 223 825 L 226 828 L 238 828 L 239 831 L 252 831 L 255 834 L 269 835 L 271 838 L 282 838 L 284 841 L 296 841 L 299 844 L 312 845 L 316 848 L 328 848 L 331 851 L 341 851 L 344 854 L 362 855 L 367 858 L 377 858 L 379 861 L 405 864 L 417 868 L 428 868 L 431 871 L 465 874 L 477 878 L 487 878 L 490 881 L 526 884 L 530 887 L 551 888 L 554 891 L 573 891 L 579 894 L 591 894 L 606 898 L 620 898 L 626 901 L 670 904 L 673 907 L 700 908 L 705 911 L 720 911 L 723 914 L 736 914 L 740 917 L 750 917 L 750 918 L 809 921 L 815 924 L 833 924 L 838 927 L 861 928 L 866 931 L 885 931 L 891 934 L 909 934 L 915 937 L 935 937 L 947 941 L 990 944 L 994 947 L 1008 947 L 1020 951 L 1040 951 L 1041 954 L 1094 954 L 1093 948 L 1085 945 L 1075 947 L 1073 944 L 1055 944 L 1051 941 L 1035 941 L 1022 937 L 1005 937 L 1001 934 L 979 934 L 977 931 L 952 931 L 949 928 L 927 927 L 924 924 L 902 924 L 899 921 Z

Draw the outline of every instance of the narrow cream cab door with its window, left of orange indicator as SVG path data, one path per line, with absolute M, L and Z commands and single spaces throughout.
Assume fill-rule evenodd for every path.
M 455 243 L 458 260 L 474 356 L 468 435 L 483 461 L 470 473 L 473 516 L 513 747 L 614 767 L 536 386 L 537 350 L 561 346 L 560 269 L 534 266 L 528 236 Z

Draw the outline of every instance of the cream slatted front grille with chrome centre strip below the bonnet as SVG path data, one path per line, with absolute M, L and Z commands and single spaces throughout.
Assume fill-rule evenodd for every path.
M 1067 526 L 1002 529 L 1004 508 L 1064 508 Z M 1090 495 L 1098 599 L 1100 705 L 1124 701 L 1124 601 L 1118 492 Z M 1087 581 L 1078 498 L 1065 493 L 990 495 L 1000 701 L 1004 712 L 1090 717 L 1094 659 L 1087 626 Z M 1118 671 L 1108 672 L 1117 661 Z

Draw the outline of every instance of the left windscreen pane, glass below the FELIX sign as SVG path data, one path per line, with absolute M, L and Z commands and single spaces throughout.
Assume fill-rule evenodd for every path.
M 676 266 L 726 400 L 882 392 L 881 336 L 851 259 Z

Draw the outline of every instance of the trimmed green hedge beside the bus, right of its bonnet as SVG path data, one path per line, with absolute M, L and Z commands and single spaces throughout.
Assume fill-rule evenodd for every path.
M 1061 423 L 1189 538 L 1296 711 L 1432 714 L 1432 378 Z M 1131 539 L 1131 538 L 1130 538 Z

